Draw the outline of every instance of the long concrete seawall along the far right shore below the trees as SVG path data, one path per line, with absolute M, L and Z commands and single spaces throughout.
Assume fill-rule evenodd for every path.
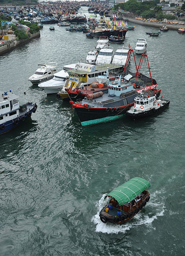
M 124 17 L 123 17 L 124 18 Z M 155 28 L 160 28 L 161 26 L 167 26 L 167 28 L 171 30 L 178 30 L 179 28 L 185 28 L 185 25 L 180 25 L 180 24 L 169 24 L 165 22 L 149 22 L 145 20 L 137 20 L 137 19 L 132 19 L 132 18 L 126 18 L 129 22 L 139 24 L 142 26 L 150 26 L 150 27 L 155 27 Z

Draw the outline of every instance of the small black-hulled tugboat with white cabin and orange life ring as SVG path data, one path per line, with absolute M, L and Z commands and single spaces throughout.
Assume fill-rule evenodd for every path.
M 145 90 L 145 88 L 137 92 L 142 90 Z M 134 105 L 127 111 L 127 115 L 134 120 L 142 119 L 163 111 L 168 105 L 169 100 L 159 99 L 157 96 L 147 93 L 147 91 L 141 92 L 141 94 L 134 99 Z

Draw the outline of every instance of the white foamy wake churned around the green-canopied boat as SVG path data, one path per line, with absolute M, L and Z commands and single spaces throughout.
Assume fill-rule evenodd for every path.
M 104 197 L 106 196 L 106 194 L 103 194 L 101 199 L 96 203 L 97 214 L 92 217 L 92 222 L 96 224 L 95 231 L 107 233 L 107 234 L 118 234 L 119 232 L 126 233 L 127 230 L 130 230 L 131 228 L 135 228 L 137 226 L 141 226 L 143 224 L 149 226 L 150 228 L 149 230 L 155 229 L 155 227 L 152 226 L 152 222 L 155 219 L 157 219 L 157 217 L 163 216 L 165 211 L 164 202 L 161 202 L 160 204 L 157 202 L 157 195 L 159 193 L 160 192 L 158 191 L 155 194 L 153 194 L 152 196 L 153 201 L 149 201 L 147 203 L 147 211 L 149 211 L 147 214 L 141 211 L 139 214 L 134 216 L 131 222 L 128 222 L 127 224 L 124 224 L 124 225 L 113 225 L 112 223 L 104 224 L 101 222 L 99 218 L 99 212 L 104 206 Z M 156 210 L 155 213 L 153 212 L 153 209 Z

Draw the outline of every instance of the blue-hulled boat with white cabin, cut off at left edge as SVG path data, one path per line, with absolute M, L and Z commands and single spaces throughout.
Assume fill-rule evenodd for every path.
M 23 124 L 27 117 L 36 112 L 36 103 L 20 102 L 18 98 L 11 90 L 0 92 L 0 134 Z

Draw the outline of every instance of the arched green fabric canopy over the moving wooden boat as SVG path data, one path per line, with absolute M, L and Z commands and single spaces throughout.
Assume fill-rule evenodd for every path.
M 147 180 L 135 177 L 112 190 L 107 196 L 115 198 L 120 206 L 130 202 L 149 187 L 150 184 Z

